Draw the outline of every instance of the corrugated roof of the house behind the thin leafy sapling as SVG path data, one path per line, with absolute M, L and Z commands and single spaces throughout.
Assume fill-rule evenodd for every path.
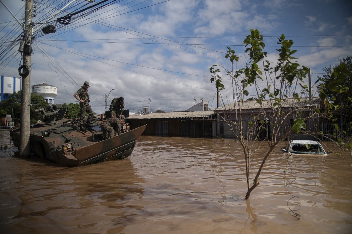
M 275 100 L 263 100 L 262 106 L 257 101 L 243 101 L 243 102 L 236 102 L 231 103 L 229 105 L 221 106 L 216 110 L 233 110 L 239 109 L 239 105 L 242 104 L 242 109 L 260 109 L 260 108 L 272 108 L 273 103 Z M 308 107 L 308 106 L 318 106 L 320 103 L 319 97 L 313 97 L 312 103 L 309 102 L 309 98 L 301 98 L 300 102 L 296 99 L 286 99 L 282 102 L 282 107 Z

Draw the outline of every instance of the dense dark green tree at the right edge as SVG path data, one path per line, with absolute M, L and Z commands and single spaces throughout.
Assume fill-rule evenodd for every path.
M 333 109 L 336 122 L 352 122 L 352 57 L 339 59 L 340 64 L 324 69 L 326 72 L 318 77 L 320 96 L 325 97 L 337 109 Z

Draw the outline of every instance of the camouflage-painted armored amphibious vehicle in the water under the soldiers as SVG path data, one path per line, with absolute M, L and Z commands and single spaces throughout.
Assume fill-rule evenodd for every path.
M 122 125 L 122 134 L 101 139 L 100 123 L 82 131 L 78 120 L 60 119 L 42 122 L 30 128 L 30 152 L 62 166 L 84 166 L 114 159 L 123 159 L 133 151 L 146 125 L 130 129 Z M 83 128 L 83 130 L 85 130 Z M 20 145 L 20 128 L 10 131 L 14 146 Z

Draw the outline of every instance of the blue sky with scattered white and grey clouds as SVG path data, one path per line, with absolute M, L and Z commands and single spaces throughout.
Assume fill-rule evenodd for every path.
M 23 23 L 25 2 L 1 1 Z M 37 0 L 34 28 L 44 22 L 41 15 L 54 15 L 68 2 Z M 73 11 L 63 10 L 53 19 Z M 277 38 L 284 34 L 292 39 L 295 57 L 311 69 L 313 82 L 324 68 L 352 56 L 348 0 L 121 0 L 68 25 L 56 25 L 55 33 L 38 33 L 33 40 L 31 85 L 56 86 L 55 103 L 68 104 L 78 103 L 73 94 L 88 81 L 90 105 L 97 114 L 119 96 L 124 96 L 125 109 L 135 113 L 143 107 L 150 112 L 184 111 L 201 99 L 216 108 L 209 67 L 231 67 L 225 58 L 227 46 L 239 56 L 238 68 L 245 66 L 249 56 L 243 40 L 251 29 L 263 35 L 264 50 L 274 62 Z M 1 47 L 21 33 L 0 3 Z M 18 48 L 19 42 L 9 53 L 13 57 L 0 58 L 1 75 L 19 77 Z M 224 84 L 222 95 L 231 95 L 229 81 Z

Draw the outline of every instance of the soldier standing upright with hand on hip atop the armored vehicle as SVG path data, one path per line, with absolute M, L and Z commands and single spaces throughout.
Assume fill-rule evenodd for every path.
M 84 82 L 83 86 L 78 89 L 78 91 L 73 95 L 78 101 L 80 101 L 80 107 L 81 107 L 81 115 L 80 115 L 80 120 L 84 120 L 84 117 L 86 116 L 86 112 L 89 114 L 88 115 L 88 125 L 93 119 L 93 110 L 92 107 L 89 105 L 89 95 L 88 95 L 88 88 L 89 88 L 89 83 L 86 81 Z

